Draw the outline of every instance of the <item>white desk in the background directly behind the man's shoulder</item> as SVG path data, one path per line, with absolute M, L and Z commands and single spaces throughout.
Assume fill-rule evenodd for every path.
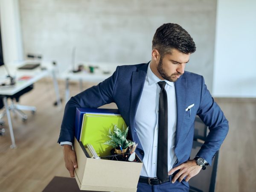
M 89 63 L 89 62 L 87 62 Z M 82 91 L 82 82 L 102 82 L 108 77 L 110 77 L 113 72 L 116 70 L 118 65 L 122 64 L 113 64 L 113 63 L 89 63 L 88 65 L 97 66 L 98 69 L 94 69 L 93 73 L 89 73 L 87 71 L 80 71 L 78 73 L 73 73 L 72 70 L 66 70 L 61 73 L 60 78 L 65 79 L 66 88 L 65 88 L 65 102 L 67 103 L 70 99 L 70 90 L 69 90 L 69 81 L 79 81 L 80 83 L 80 91 Z M 104 72 L 110 72 L 108 74 L 104 74 Z

